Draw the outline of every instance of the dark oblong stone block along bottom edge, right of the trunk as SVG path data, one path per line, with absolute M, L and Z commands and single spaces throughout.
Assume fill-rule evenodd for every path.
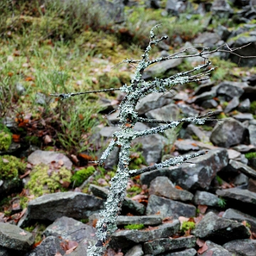
M 144 253 L 149 255 L 159 255 L 169 250 L 178 250 L 196 246 L 196 238 L 193 235 L 183 238 L 161 238 L 152 242 L 144 243 Z

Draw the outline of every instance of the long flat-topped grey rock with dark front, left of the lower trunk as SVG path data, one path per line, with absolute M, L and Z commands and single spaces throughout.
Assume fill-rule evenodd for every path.
M 87 218 L 104 208 L 102 200 L 80 192 L 58 192 L 40 196 L 28 203 L 29 220 L 51 220 L 66 216 Z

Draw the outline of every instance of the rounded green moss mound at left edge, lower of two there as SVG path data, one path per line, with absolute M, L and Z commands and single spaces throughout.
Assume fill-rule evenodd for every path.
M 18 177 L 26 170 L 26 164 L 22 163 L 16 156 L 0 156 L 0 179 L 12 179 Z

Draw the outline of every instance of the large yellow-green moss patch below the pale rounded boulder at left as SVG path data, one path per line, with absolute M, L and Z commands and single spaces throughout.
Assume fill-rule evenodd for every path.
M 46 193 L 54 193 L 58 189 L 65 191 L 62 183 L 69 185 L 71 181 L 71 171 L 65 167 L 50 170 L 46 164 L 38 164 L 34 166 L 31 172 L 31 180 L 28 181 L 26 188 L 30 190 L 31 195 L 43 196 Z

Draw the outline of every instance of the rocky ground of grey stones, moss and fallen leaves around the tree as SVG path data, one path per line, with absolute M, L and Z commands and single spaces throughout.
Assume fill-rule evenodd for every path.
M 233 15 L 236 21 L 250 24 L 232 32 L 220 26 L 218 31 L 202 33 L 194 43 L 218 46 L 229 38 L 231 46 L 237 47 L 251 42 L 247 50 L 253 55 L 256 26 L 252 21 L 256 14 L 250 9 L 252 2 L 235 2 L 238 10 L 234 14 L 228 3 L 214 1 L 213 13 Z M 157 7 L 158 1 L 152 3 Z M 181 11 L 178 4 L 168 3 L 163 11 Z M 199 6 L 198 13 L 206 13 L 207 4 Z M 189 46 L 191 43 L 186 43 Z M 161 47 L 161 56 L 168 55 L 168 49 Z M 240 54 L 246 52 L 240 50 Z M 234 57 L 233 61 L 237 60 Z M 193 65 L 201 63 L 193 61 Z M 248 66 L 255 63 L 256 59 L 240 62 Z M 182 60 L 158 63 L 146 70 L 144 79 L 164 75 L 182 64 Z M 122 97 L 102 98 L 106 113 L 117 109 Z M 133 168 L 201 150 L 208 150 L 208 154 L 131 179 L 107 255 L 255 255 L 255 98 L 256 75 L 247 72 L 239 74 L 237 81 L 215 82 L 209 77 L 196 90 L 176 87 L 138 103 L 140 117 L 178 119 L 213 112 L 211 116 L 218 120 L 203 126 L 185 123 L 175 131 L 136 139 Z M 100 127 L 94 135 L 95 144 L 108 141 L 119 129 L 117 116 L 118 111 L 107 116 L 108 126 Z M 147 128 L 145 124 L 135 126 L 139 131 Z M 1 137 L 2 142 L 10 142 L 7 133 Z M 1 148 L 0 256 L 86 255 L 87 247 L 97 241 L 95 225 L 104 208 L 119 149 L 112 152 L 104 170 L 89 164 L 82 171 L 75 166 L 75 156 L 68 158 L 60 151 L 34 148 L 24 164 L 11 158 L 18 148 L 14 139 Z

